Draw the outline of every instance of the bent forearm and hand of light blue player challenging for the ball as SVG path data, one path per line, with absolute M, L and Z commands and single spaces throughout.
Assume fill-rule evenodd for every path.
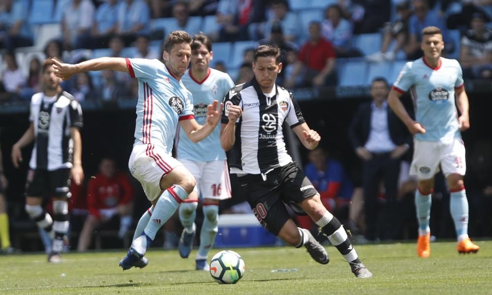
M 200 125 L 195 119 L 188 119 L 180 121 L 181 128 L 183 128 L 188 138 L 193 142 L 198 142 L 205 137 L 209 136 L 217 126 L 220 120 L 220 113 L 222 112 L 222 104 L 217 109 L 218 101 L 214 101 L 207 107 L 207 120 L 204 125 Z

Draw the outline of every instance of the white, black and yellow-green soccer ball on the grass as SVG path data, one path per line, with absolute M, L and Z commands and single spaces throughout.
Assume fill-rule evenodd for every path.
M 231 250 L 220 251 L 212 257 L 210 275 L 219 284 L 236 284 L 245 273 L 241 255 Z

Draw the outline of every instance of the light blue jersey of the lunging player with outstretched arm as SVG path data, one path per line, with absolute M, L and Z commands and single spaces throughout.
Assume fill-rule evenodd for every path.
M 126 58 L 132 78 L 138 79 L 135 142 L 159 145 L 171 155 L 178 121 L 191 119 L 191 93 L 158 59 Z

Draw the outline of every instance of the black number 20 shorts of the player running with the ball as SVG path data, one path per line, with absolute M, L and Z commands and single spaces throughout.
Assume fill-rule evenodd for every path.
M 260 174 L 247 174 L 238 182 L 258 221 L 274 235 L 290 219 L 285 204 L 306 215 L 298 204 L 318 193 L 295 162 L 269 172 L 265 181 Z

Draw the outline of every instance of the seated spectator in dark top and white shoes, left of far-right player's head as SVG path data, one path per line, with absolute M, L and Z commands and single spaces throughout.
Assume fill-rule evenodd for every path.
M 381 50 L 375 54 L 367 56 L 368 61 L 395 60 L 397 53 L 402 50 L 408 43 L 408 21 L 413 11 L 410 2 L 402 0 L 396 4 L 398 19 L 392 23 L 386 23 L 383 27 L 383 40 Z M 388 51 L 390 45 L 396 41 L 391 51 Z

